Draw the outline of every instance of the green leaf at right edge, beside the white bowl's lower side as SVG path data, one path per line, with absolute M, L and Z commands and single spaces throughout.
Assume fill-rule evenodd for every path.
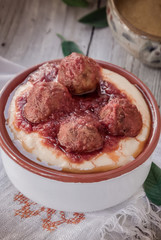
M 150 172 L 144 182 L 147 197 L 156 205 L 161 205 L 161 169 L 152 163 Z

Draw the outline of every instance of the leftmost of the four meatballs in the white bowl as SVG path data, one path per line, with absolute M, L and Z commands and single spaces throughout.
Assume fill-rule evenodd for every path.
M 38 82 L 29 92 L 24 116 L 32 123 L 39 123 L 53 111 L 69 111 L 71 102 L 71 95 L 62 84 Z

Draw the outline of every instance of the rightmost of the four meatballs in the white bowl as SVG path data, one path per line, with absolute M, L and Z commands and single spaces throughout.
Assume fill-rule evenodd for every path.
M 100 111 L 100 118 L 111 135 L 135 137 L 142 128 L 137 107 L 127 99 L 111 99 Z

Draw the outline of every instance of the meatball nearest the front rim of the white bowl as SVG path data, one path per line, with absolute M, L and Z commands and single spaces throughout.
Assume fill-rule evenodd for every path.
M 67 152 L 92 152 L 103 147 L 99 122 L 89 117 L 72 118 L 60 125 L 59 143 Z

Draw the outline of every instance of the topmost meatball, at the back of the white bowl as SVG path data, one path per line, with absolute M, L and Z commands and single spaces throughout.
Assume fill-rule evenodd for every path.
M 72 94 L 94 91 L 99 79 L 100 67 L 89 57 L 72 53 L 60 63 L 58 82 L 65 85 Z

